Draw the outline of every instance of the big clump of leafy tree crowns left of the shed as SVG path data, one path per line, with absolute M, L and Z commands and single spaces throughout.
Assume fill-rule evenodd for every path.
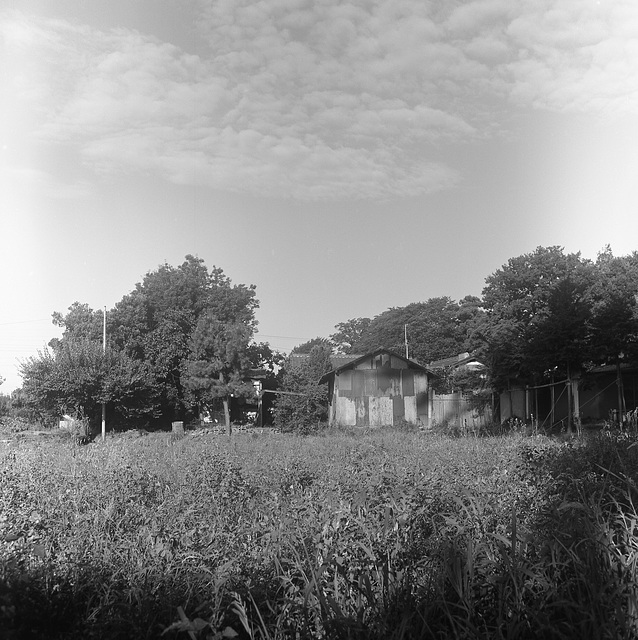
M 23 363 L 24 389 L 34 404 L 93 421 L 101 402 L 116 419 L 187 419 L 198 402 L 239 393 L 250 366 L 273 355 L 252 342 L 257 308 L 253 285 L 188 255 L 148 272 L 107 312 L 105 355 L 101 311 L 76 302 L 54 313 L 63 335 Z

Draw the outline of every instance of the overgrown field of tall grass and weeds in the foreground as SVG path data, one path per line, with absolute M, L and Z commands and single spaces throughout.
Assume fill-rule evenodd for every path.
M 633 442 L 0 444 L 2 637 L 636 638 Z

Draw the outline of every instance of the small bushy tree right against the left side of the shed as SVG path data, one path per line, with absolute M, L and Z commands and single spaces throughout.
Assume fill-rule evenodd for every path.
M 331 350 L 328 345 L 315 345 L 302 362 L 285 363 L 281 390 L 274 409 L 275 426 L 284 432 L 308 434 L 328 419 L 327 385 L 319 384 L 330 371 Z

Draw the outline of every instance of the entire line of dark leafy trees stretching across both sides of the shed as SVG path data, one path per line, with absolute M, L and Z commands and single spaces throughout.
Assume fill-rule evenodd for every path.
M 302 394 L 280 396 L 278 426 L 311 428 L 325 419 L 317 381 L 330 355 L 403 353 L 406 331 L 410 358 L 427 366 L 471 352 L 496 391 L 638 363 L 638 253 L 617 257 L 608 247 L 596 260 L 538 247 L 489 275 L 481 297 L 435 297 L 340 322 L 329 337 L 293 349 L 308 354 L 296 367 L 255 342 L 258 306 L 254 286 L 232 284 L 201 259 L 164 264 L 106 313 L 105 353 L 102 311 L 76 302 L 54 313 L 62 338 L 22 363 L 16 396 L 43 417 L 72 413 L 94 423 L 106 403 L 109 421 L 129 426 L 196 419 L 219 403 L 229 423 L 230 398 L 254 397 L 248 380 L 260 369 L 272 386 Z

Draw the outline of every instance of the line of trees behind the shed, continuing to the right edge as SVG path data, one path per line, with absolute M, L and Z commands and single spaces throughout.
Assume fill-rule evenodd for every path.
M 569 378 L 599 365 L 638 365 L 638 253 L 614 256 L 606 247 L 596 260 L 558 246 L 508 260 L 485 279 L 482 296 L 430 298 L 390 308 L 374 318 L 351 318 L 327 338 L 295 351 L 310 357 L 308 375 L 284 376 L 286 388 L 310 392 L 316 369 L 329 367 L 330 353 L 364 354 L 378 347 L 405 353 L 423 365 L 469 352 L 485 364 L 476 373 L 439 369 L 435 389 L 502 391 L 512 383 L 535 385 Z M 325 417 L 324 396 L 306 411 L 310 428 Z M 303 422 L 291 399 L 286 415 Z

